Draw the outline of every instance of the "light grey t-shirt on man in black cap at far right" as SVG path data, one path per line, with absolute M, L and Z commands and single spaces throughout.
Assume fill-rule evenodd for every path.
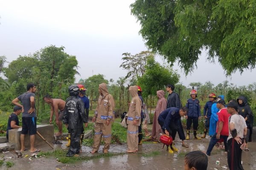
M 233 123 L 235 125 L 235 129 L 237 131 L 237 135 L 239 136 L 239 138 L 244 138 L 244 128 L 247 127 L 244 117 L 239 114 L 234 114 L 234 115 L 230 116 L 229 124 L 230 123 Z M 233 138 L 233 137 L 230 133 L 230 129 L 228 128 L 227 140 L 229 140 L 231 138 Z

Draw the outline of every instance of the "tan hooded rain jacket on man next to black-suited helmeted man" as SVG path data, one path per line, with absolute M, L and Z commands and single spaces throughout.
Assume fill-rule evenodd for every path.
M 107 119 L 111 119 L 111 122 L 113 122 L 115 119 L 113 114 L 115 109 L 113 96 L 108 93 L 106 83 L 99 84 L 99 88 L 101 89 L 103 96 L 99 95 L 98 105 L 96 108 L 96 123 L 105 123 Z

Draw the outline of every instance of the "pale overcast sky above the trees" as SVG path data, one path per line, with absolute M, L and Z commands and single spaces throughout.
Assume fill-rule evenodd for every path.
M 147 50 L 138 34 L 140 24 L 131 15 L 135 0 L 0 0 L 0 56 L 7 61 L 19 55 L 33 54 L 49 45 L 63 45 L 65 52 L 79 62 L 76 80 L 104 74 L 117 80 L 126 71 L 119 68 L 122 53 Z M 217 85 L 228 80 L 236 85 L 256 82 L 256 70 L 225 77 L 218 63 L 206 61 L 206 52 L 198 60 L 198 69 L 185 77 L 177 64 L 180 82 L 211 81 Z M 160 57 L 157 61 L 163 62 Z

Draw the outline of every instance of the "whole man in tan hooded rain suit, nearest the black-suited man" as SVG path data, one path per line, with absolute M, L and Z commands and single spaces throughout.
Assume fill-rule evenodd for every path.
M 115 118 L 113 114 L 115 101 L 113 96 L 109 94 L 106 83 L 99 84 L 99 94 L 95 116 L 93 117 L 93 122 L 95 122 L 95 133 L 93 136 L 93 150 L 91 153 L 98 152 L 102 137 L 105 142 L 103 153 L 108 153 L 111 143 L 111 124 Z

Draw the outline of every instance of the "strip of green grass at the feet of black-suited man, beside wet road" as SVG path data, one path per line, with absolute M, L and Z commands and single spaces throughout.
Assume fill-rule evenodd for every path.
M 41 156 L 45 155 L 47 157 L 55 157 L 58 158 L 59 161 L 63 164 L 72 164 L 77 161 L 88 161 L 91 159 L 99 159 L 99 158 L 106 158 L 106 157 L 112 157 L 112 156 L 118 156 L 123 155 L 124 153 L 102 153 L 102 154 L 94 154 L 93 156 L 72 156 L 67 157 L 66 156 L 67 150 L 55 150 L 53 152 L 42 152 Z

